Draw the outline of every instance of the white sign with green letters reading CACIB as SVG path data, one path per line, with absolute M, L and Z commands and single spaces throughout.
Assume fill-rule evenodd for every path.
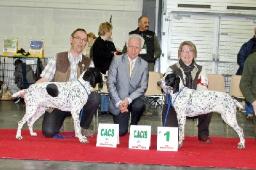
M 129 149 L 149 150 L 151 139 L 151 126 L 131 125 L 129 136 Z

